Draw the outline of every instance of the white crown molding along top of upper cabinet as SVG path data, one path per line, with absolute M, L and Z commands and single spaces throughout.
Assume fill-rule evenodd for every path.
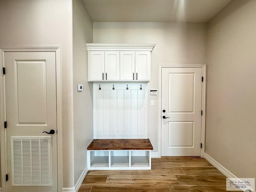
M 152 51 L 156 44 L 87 43 L 88 51 Z

